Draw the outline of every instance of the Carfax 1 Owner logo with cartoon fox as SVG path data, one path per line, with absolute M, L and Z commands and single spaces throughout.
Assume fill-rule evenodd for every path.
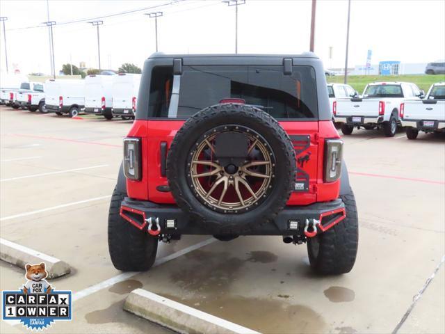
M 3 320 L 19 320 L 31 330 L 54 321 L 72 319 L 71 291 L 58 291 L 45 278 L 45 264 L 26 264 L 26 283 L 17 291 L 3 291 Z

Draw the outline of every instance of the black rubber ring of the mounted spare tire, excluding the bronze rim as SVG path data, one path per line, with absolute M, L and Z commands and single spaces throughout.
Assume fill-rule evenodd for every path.
M 276 159 L 275 177 L 268 197 L 243 213 L 224 214 L 205 206 L 187 183 L 188 154 L 200 136 L 221 125 L 241 125 L 261 134 Z M 282 211 L 293 191 L 296 157 L 293 144 L 268 113 L 246 104 L 216 104 L 193 115 L 179 129 L 167 157 L 167 178 L 177 205 L 209 234 L 242 234 L 270 221 Z

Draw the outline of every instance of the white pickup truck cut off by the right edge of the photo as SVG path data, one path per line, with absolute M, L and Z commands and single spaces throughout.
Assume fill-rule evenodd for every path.
M 419 131 L 445 132 L 445 82 L 433 84 L 421 101 L 405 100 L 399 116 L 408 139 L 417 138 Z

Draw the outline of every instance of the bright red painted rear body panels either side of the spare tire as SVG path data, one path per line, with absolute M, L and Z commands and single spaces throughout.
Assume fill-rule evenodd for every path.
M 174 204 L 171 193 L 156 190 L 157 186 L 166 186 L 166 177 L 161 176 L 161 142 L 168 147 L 172 143 L 183 120 L 136 120 L 129 132 L 129 137 L 142 138 L 142 180 L 127 180 L 128 196 L 138 200 L 149 200 L 160 204 Z M 324 140 L 325 138 L 340 138 L 331 121 L 283 121 L 280 125 L 291 135 L 309 135 L 310 145 L 300 153 L 308 152 L 311 159 L 302 170 L 309 174 L 309 191 L 292 193 L 287 205 L 309 205 L 314 202 L 334 200 L 339 196 L 340 180 L 332 183 L 323 182 Z M 299 157 L 298 156 L 298 157 Z M 297 157 L 297 159 L 298 159 Z

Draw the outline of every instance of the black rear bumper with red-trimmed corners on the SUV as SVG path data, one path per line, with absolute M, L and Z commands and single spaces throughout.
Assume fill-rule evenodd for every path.
M 306 219 L 317 219 L 321 221 L 321 231 L 332 228 L 345 217 L 345 206 L 341 199 L 330 202 L 317 202 L 305 206 L 287 206 L 280 212 L 273 222 L 258 225 L 254 230 L 241 232 L 241 235 L 304 235 Z M 159 218 L 161 234 L 218 234 L 218 230 L 211 227 L 203 229 L 196 224 L 185 212 L 176 205 L 159 205 L 154 202 L 131 200 L 124 198 L 122 201 L 120 215 L 128 223 L 139 230 L 147 231 L 146 219 Z M 167 228 L 166 221 L 174 219 L 175 228 Z M 298 228 L 290 229 L 290 222 L 298 222 Z M 293 225 L 296 225 L 295 223 Z

